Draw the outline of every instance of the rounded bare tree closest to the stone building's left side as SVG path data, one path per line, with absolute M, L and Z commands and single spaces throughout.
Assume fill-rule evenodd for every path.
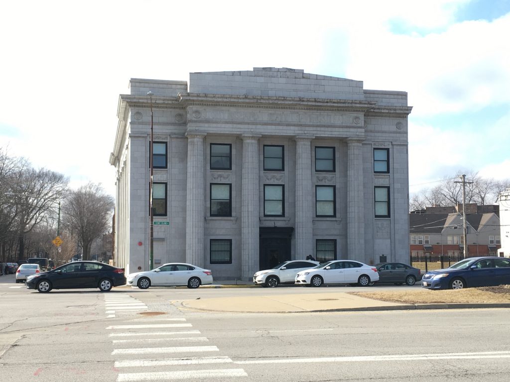
M 62 207 L 63 220 L 77 235 L 84 260 L 90 258 L 93 241 L 109 231 L 113 207 L 113 197 L 100 184 L 88 183 L 69 192 Z

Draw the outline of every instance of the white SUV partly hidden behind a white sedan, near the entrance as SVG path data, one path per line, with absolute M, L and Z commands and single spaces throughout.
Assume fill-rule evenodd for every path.
M 259 270 L 253 275 L 253 284 L 263 287 L 274 288 L 278 284 L 292 283 L 296 274 L 304 269 L 319 265 L 318 261 L 312 260 L 291 260 L 284 261 L 272 269 Z

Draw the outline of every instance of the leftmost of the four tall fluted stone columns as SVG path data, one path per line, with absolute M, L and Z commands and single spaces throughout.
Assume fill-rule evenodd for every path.
M 204 133 L 186 133 L 188 169 L 186 185 L 186 261 L 203 267 L 203 225 L 205 220 L 203 138 Z

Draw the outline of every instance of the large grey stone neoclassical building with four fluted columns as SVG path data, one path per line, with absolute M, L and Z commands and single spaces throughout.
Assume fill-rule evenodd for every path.
M 149 268 L 150 152 L 155 267 L 249 279 L 310 254 L 409 261 L 407 93 L 287 68 L 130 87 L 110 157 L 117 266 Z

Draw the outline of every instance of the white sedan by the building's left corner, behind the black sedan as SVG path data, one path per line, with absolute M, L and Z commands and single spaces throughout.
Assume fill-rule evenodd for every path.
M 127 285 L 147 289 L 150 286 L 187 286 L 198 288 L 213 283 L 209 269 L 186 263 L 168 263 L 145 272 L 136 272 L 127 276 Z

